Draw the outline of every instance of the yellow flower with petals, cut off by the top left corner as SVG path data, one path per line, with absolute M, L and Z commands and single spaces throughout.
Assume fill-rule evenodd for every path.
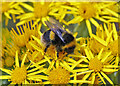
M 19 2 L 2 2 L 2 14 L 6 17 L 6 25 L 8 24 L 8 19 L 12 19 L 10 14 L 12 14 L 13 20 L 15 21 L 15 15 L 19 15 L 21 13 L 24 13 L 24 11 L 19 6 Z

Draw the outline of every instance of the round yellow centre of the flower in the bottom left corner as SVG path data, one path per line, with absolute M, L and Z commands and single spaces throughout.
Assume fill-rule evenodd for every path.
M 11 81 L 16 84 L 21 84 L 24 82 L 27 76 L 27 71 L 25 67 L 16 67 L 11 74 Z

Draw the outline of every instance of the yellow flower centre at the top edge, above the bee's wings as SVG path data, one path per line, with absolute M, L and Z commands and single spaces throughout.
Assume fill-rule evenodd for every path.
M 49 12 L 49 4 L 50 2 L 44 2 L 41 4 L 40 2 L 34 3 L 34 15 L 36 18 L 45 17 L 48 15 Z

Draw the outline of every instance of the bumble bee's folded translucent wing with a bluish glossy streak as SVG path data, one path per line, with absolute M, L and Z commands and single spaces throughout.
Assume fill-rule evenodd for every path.
M 62 32 L 64 32 L 63 29 L 58 28 L 56 24 L 49 23 L 48 21 L 45 21 L 46 25 L 65 43 Z

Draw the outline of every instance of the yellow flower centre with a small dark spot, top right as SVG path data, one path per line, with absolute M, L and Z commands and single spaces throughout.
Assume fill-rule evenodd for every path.
M 79 6 L 79 13 L 85 19 L 92 18 L 96 16 L 97 9 L 93 3 L 84 3 L 82 2 Z

